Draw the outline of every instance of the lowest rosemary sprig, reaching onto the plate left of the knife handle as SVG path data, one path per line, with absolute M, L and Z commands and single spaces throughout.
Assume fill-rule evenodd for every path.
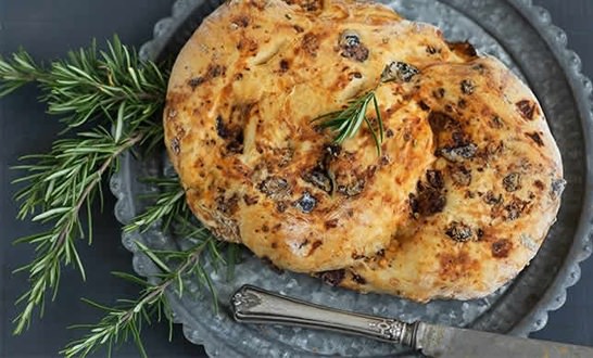
M 148 357 L 141 338 L 143 325 L 152 323 L 151 317 L 156 317 L 160 322 L 166 319 L 169 323 L 169 340 L 172 330 L 171 305 L 166 296 L 167 290 L 175 290 L 181 296 L 184 294 L 184 278 L 199 277 L 209 281 L 207 286 L 212 289 L 210 277 L 203 272 L 201 260 L 204 252 L 209 250 L 212 242 L 216 242 L 212 235 L 204 235 L 192 248 L 185 252 L 153 252 L 147 246 L 137 243 L 149 258 L 163 271 L 160 282 L 151 284 L 146 280 L 122 272 L 116 276 L 141 284 L 144 289 L 135 301 L 119 299 L 114 307 L 106 307 L 91 301 L 88 304 L 106 311 L 106 315 L 94 324 L 79 324 L 72 328 L 86 329 L 87 333 L 83 338 L 71 342 L 61 351 L 66 357 L 86 357 L 96 351 L 99 347 L 106 345 L 108 354 L 114 345 L 134 340 L 138 351 L 142 357 Z M 172 266 L 172 260 L 179 263 Z

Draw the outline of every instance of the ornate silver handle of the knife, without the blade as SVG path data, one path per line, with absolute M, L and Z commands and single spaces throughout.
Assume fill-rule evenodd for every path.
M 414 347 L 418 323 L 348 312 L 281 296 L 252 285 L 232 294 L 235 319 L 247 323 L 277 323 L 332 330 Z

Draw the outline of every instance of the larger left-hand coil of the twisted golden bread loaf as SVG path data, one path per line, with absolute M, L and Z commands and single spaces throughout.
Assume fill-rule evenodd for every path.
M 304 8 L 231 1 L 206 18 L 173 71 L 165 133 L 201 220 L 311 272 L 384 248 L 433 159 L 427 113 L 405 104 L 400 84 L 377 93 L 390 133 L 382 158 L 366 130 L 332 150 L 312 119 L 373 88 L 390 61 L 450 53 L 433 27 L 380 5 L 326 1 L 314 17 Z M 359 46 L 343 46 L 344 34 Z M 428 53 L 427 39 L 444 51 Z

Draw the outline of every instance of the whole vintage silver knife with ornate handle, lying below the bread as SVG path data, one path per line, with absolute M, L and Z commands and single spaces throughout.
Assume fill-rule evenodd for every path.
M 332 330 L 402 344 L 429 357 L 593 357 L 593 348 L 425 322 L 358 315 L 282 296 L 252 285 L 230 299 L 235 319 Z

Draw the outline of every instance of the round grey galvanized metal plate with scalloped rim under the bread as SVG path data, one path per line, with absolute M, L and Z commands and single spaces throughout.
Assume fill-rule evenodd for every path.
M 568 181 L 558 221 L 533 259 L 513 282 L 482 299 L 437 301 L 426 305 L 387 295 L 361 295 L 329 287 L 307 276 L 277 273 L 249 253 L 237 266 L 235 279 L 214 273 L 219 314 L 213 310 L 210 294 L 188 278 L 182 297 L 169 299 L 174 319 L 184 324 L 187 338 L 203 344 L 213 357 L 387 357 L 403 348 L 337 333 L 293 328 L 242 325 L 235 323 L 225 308 L 230 293 L 244 283 L 279 291 L 314 303 L 358 312 L 424 320 L 492 332 L 527 335 L 542 329 L 547 312 L 559 308 L 566 289 L 580 277 L 578 264 L 590 256 L 593 236 L 592 90 L 581 74 L 579 57 L 566 49 L 566 35 L 551 24 L 550 14 L 530 0 L 394 0 L 383 1 L 411 20 L 428 22 L 443 29 L 450 40 L 469 40 L 482 53 L 497 56 L 533 89 L 548 118 L 563 153 Z M 154 39 L 141 49 L 147 59 L 174 57 L 219 2 L 179 0 L 171 17 L 160 21 Z M 146 202 L 141 194 L 156 189 L 138 179 L 174 175 L 166 155 L 142 162 L 124 155 L 111 187 L 118 201 L 115 215 L 127 223 Z M 157 227 L 146 233 L 123 236 L 134 253 L 134 268 L 156 280 L 156 267 L 140 253 L 135 241 L 160 250 L 182 250 L 191 243 L 162 232 Z

